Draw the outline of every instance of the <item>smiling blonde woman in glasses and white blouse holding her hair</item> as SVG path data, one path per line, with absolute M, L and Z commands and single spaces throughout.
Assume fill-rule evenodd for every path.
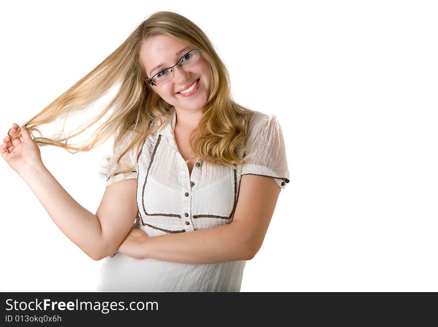
M 110 105 L 81 129 L 114 109 L 89 144 L 67 145 L 77 133 L 32 139 L 37 125 L 87 109 L 118 82 Z M 38 145 L 87 151 L 112 134 L 107 188 L 94 215 L 50 174 Z M 91 258 L 105 258 L 98 291 L 238 292 L 245 261 L 261 247 L 289 183 L 276 117 L 232 101 L 210 40 L 173 12 L 151 15 L 8 135 L 3 159 L 67 237 Z

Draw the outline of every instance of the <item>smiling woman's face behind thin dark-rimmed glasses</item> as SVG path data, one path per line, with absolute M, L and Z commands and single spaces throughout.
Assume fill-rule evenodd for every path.
M 193 50 L 186 44 L 167 36 L 157 35 L 143 41 L 140 49 L 140 59 L 144 65 L 146 75 L 151 79 L 161 70 L 169 68 Z M 158 66 L 158 67 L 157 67 Z M 177 109 L 195 111 L 202 109 L 207 103 L 210 88 L 210 68 L 207 61 L 200 56 L 198 61 L 190 67 L 173 67 L 173 78 L 163 85 L 152 86 L 165 102 Z M 190 87 L 199 79 L 195 92 L 188 96 L 180 94 L 180 91 Z

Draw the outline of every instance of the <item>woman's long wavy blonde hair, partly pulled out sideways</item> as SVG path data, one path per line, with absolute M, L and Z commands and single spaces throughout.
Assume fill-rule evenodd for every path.
M 132 131 L 130 144 L 117 158 L 118 169 L 114 174 L 131 172 L 134 167 L 121 165 L 120 159 L 133 147 L 138 153 L 142 141 L 163 125 L 164 116 L 172 108 L 153 92 L 152 86 L 146 81 L 146 72 L 140 61 L 142 41 L 156 35 L 168 35 L 188 46 L 200 49 L 201 55 L 210 67 L 211 84 L 209 98 L 203 109 L 204 115 L 198 127 L 190 134 L 193 153 L 212 164 L 223 164 L 232 168 L 243 164 L 245 158 L 241 153 L 246 142 L 246 125 L 253 111 L 231 99 L 229 73 L 209 38 L 191 20 L 170 11 L 159 11 L 150 15 L 102 63 L 29 119 L 25 125 L 36 144 L 55 145 L 76 153 L 89 151 L 114 135 L 115 150 L 125 133 Z M 43 137 L 37 128 L 61 118 L 67 121 L 70 127 L 69 117 L 76 115 L 78 111 L 89 113 L 89 106 L 117 84 L 120 84 L 119 89 L 109 105 L 100 110 L 96 117 L 82 123 L 66 136 L 62 136 L 65 124 L 54 138 Z M 110 112 L 109 117 L 98 126 L 90 138 L 79 144 L 67 144 L 70 138 L 96 124 L 110 109 L 113 112 Z M 37 131 L 40 137 L 33 137 L 33 131 Z M 199 137 L 194 140 L 193 136 L 197 132 Z M 8 132 L 8 135 L 13 137 L 19 133 L 20 129 L 14 133 Z

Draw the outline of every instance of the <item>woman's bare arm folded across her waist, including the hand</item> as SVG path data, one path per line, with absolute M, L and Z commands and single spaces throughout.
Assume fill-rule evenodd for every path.
M 118 252 L 181 263 L 250 260 L 260 249 L 280 188 L 270 177 L 244 175 L 233 221 L 216 227 L 148 237 L 132 228 Z

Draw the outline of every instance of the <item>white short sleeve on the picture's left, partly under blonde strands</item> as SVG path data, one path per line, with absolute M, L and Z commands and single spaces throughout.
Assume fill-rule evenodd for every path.
M 101 167 L 103 167 L 103 171 L 101 171 L 101 174 L 105 176 L 105 183 L 107 187 L 109 186 L 109 184 L 112 184 L 114 182 L 130 178 L 137 178 L 138 146 L 134 145 L 120 159 L 120 165 L 130 167 L 129 171 L 122 173 L 120 172 L 120 168 L 117 167 L 117 158 L 129 146 L 130 142 L 132 142 L 132 134 L 130 132 L 126 132 L 123 135 L 120 143 L 117 146 L 113 146 L 112 156 L 105 156 L 101 160 Z

